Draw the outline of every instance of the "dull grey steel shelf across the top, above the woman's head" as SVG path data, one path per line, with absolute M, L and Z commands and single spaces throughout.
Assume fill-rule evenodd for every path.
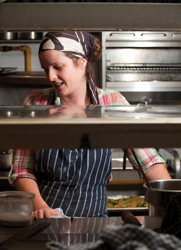
M 0 31 L 180 31 L 180 15 L 167 3 L 3 3 Z

